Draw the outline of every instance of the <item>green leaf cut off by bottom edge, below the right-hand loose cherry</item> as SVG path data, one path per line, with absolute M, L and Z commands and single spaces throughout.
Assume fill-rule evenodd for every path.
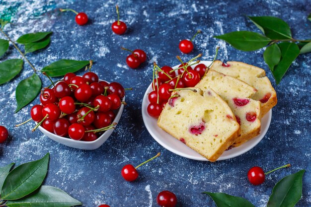
M 254 207 L 249 201 L 240 197 L 225 193 L 203 193 L 209 195 L 214 200 L 217 207 Z

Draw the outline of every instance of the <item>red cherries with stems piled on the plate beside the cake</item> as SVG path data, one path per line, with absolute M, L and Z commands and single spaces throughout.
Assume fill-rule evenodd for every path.
M 158 118 L 165 104 L 171 104 L 171 100 L 173 100 L 173 97 L 171 97 L 172 91 L 185 87 L 194 87 L 201 80 L 208 68 L 204 64 L 198 64 L 199 61 L 195 61 L 201 56 L 202 54 L 199 54 L 187 63 L 183 63 L 180 57 L 177 56 L 177 59 L 181 62 L 177 69 L 172 69 L 169 66 L 159 68 L 154 63 L 153 91 L 148 95 L 150 104 L 147 108 L 147 112 L 151 117 Z M 192 68 L 193 65 L 196 66 Z

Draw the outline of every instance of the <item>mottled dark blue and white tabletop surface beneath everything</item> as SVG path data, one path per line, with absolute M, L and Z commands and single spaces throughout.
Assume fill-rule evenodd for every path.
M 120 6 L 121 20 L 128 25 L 122 36 L 111 31 L 116 3 Z M 311 206 L 310 54 L 299 56 L 276 86 L 263 62 L 263 50 L 241 52 L 213 38 L 236 30 L 259 32 L 243 15 L 247 14 L 281 17 L 289 23 L 295 38 L 310 39 L 311 22 L 306 18 L 311 12 L 310 0 L 0 0 L 0 5 L 1 17 L 11 18 L 13 24 L 6 26 L 5 31 L 14 40 L 29 32 L 53 31 L 47 49 L 27 54 L 37 69 L 59 59 L 92 59 L 96 61 L 93 70 L 101 79 L 116 80 L 134 88 L 127 93 L 128 105 L 112 136 L 97 150 L 77 150 L 50 140 L 39 131 L 31 133 L 33 123 L 13 128 L 28 119 L 31 106 L 39 103 L 36 98 L 31 105 L 13 113 L 15 88 L 20 80 L 32 74 L 25 63 L 20 75 L 0 86 L 0 125 L 6 126 L 11 135 L 9 141 L 0 145 L 0 166 L 11 161 L 18 165 L 50 152 L 45 184 L 63 189 L 87 207 L 104 203 L 111 207 L 155 207 L 156 196 L 162 190 L 177 195 L 178 207 L 214 207 L 213 201 L 201 194 L 203 191 L 244 197 L 256 207 L 265 207 L 273 186 L 281 178 L 307 169 L 303 197 L 296 206 Z M 60 13 L 59 7 L 84 11 L 90 23 L 78 26 L 74 13 Z M 182 55 L 179 41 L 190 38 L 197 29 L 203 34 L 194 40 L 194 52 Z M 129 69 L 125 63 L 128 53 L 120 50 L 120 46 L 145 50 L 147 63 L 140 69 Z M 176 55 L 186 60 L 198 53 L 204 54 L 203 60 L 211 60 L 216 46 L 222 47 L 221 60 L 242 61 L 266 69 L 279 103 L 273 108 L 268 133 L 257 146 L 233 159 L 210 163 L 186 159 L 161 147 L 144 127 L 141 104 L 152 80 L 154 61 L 160 66 L 174 66 L 178 64 Z M 20 58 L 12 46 L 0 61 L 9 58 Z M 40 77 L 47 85 L 48 80 Z M 140 168 L 136 182 L 123 180 L 120 170 L 125 164 L 137 165 L 157 152 L 162 155 Z M 252 166 L 270 170 L 286 163 L 293 167 L 270 174 L 260 186 L 247 181 L 246 173 Z

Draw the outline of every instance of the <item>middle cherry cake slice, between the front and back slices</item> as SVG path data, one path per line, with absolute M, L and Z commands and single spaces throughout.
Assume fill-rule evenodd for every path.
M 240 137 L 233 146 L 238 146 L 260 133 L 260 102 L 251 99 L 257 90 L 230 75 L 210 69 L 196 85 L 203 91 L 212 88 L 232 109 L 240 124 Z

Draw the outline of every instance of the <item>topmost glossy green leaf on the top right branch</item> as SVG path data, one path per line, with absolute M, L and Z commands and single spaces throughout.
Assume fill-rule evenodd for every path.
M 280 18 L 274 16 L 248 16 L 248 18 L 273 40 L 292 39 L 291 28 Z

